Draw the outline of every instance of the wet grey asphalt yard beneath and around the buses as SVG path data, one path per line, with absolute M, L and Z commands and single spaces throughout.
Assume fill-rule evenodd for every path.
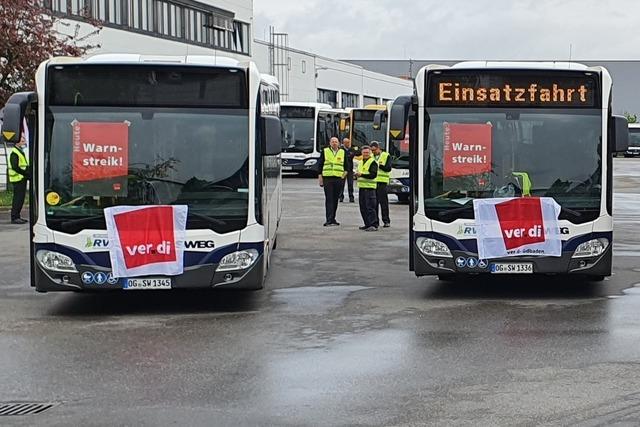
M 36 294 L 0 213 L 0 425 L 638 425 L 640 159 L 617 159 L 615 275 L 416 278 L 407 206 L 360 232 L 286 178 L 260 292 Z M 636 287 L 636 285 L 638 287 Z

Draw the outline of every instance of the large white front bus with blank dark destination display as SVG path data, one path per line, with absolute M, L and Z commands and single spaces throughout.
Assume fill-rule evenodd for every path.
M 44 62 L 36 90 L 10 98 L 3 137 L 27 118 L 37 291 L 263 287 L 282 199 L 275 78 L 228 58 L 97 55 Z M 188 207 L 184 272 L 112 275 L 103 209 L 171 205 Z

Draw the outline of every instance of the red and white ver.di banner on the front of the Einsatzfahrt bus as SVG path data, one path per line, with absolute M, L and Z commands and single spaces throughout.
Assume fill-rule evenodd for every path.
M 562 256 L 561 207 L 552 198 L 476 199 L 473 209 L 480 259 Z

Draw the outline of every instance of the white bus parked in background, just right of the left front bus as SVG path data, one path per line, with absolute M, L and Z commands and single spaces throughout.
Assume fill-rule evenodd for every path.
M 332 136 L 338 136 L 340 110 L 315 102 L 283 102 L 280 119 L 282 170 L 315 177 L 320 152 Z

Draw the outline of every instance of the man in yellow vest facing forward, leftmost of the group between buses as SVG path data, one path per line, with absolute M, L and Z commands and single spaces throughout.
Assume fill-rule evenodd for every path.
M 324 188 L 324 207 L 326 214 L 325 227 L 338 226 L 336 213 L 338 211 L 338 199 L 342 194 L 342 182 L 347 176 L 347 153 L 340 148 L 340 140 L 333 137 L 329 140 L 329 147 L 320 153 L 318 169 L 318 183 Z

